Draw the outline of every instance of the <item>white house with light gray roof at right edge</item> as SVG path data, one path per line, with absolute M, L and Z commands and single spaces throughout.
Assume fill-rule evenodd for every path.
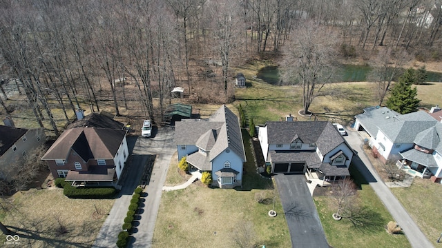
M 371 107 L 356 117 L 355 128 L 369 134 L 375 156 L 398 161 L 408 174 L 442 178 L 442 123 L 427 112 L 398 114 L 387 107 Z

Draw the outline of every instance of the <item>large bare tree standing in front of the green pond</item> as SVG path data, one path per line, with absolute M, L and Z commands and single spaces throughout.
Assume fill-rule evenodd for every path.
M 302 87 L 302 114 L 308 114 L 311 103 L 332 78 L 336 36 L 332 30 L 313 22 L 302 23 L 296 34 L 285 47 L 282 79 Z

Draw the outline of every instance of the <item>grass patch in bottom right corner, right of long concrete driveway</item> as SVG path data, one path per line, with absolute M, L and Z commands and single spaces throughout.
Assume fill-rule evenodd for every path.
M 442 185 L 416 177 L 411 187 L 391 190 L 433 245 L 440 245 L 436 240 L 442 230 Z

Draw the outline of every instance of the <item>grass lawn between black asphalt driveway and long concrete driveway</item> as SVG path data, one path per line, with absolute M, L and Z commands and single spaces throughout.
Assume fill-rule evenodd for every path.
M 394 220 L 376 193 L 357 170 L 350 172 L 358 185 L 357 201 L 364 211 L 358 213 L 363 225 L 354 225 L 349 219 L 334 220 L 336 207 L 329 196 L 315 196 L 320 221 L 332 247 L 410 247 L 403 234 L 388 234 L 385 226 Z

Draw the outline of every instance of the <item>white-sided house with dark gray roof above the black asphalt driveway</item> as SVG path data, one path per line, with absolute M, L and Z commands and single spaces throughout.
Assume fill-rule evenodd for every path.
M 328 121 L 267 121 L 258 138 L 272 173 L 300 173 L 327 181 L 349 176 L 353 151 Z

